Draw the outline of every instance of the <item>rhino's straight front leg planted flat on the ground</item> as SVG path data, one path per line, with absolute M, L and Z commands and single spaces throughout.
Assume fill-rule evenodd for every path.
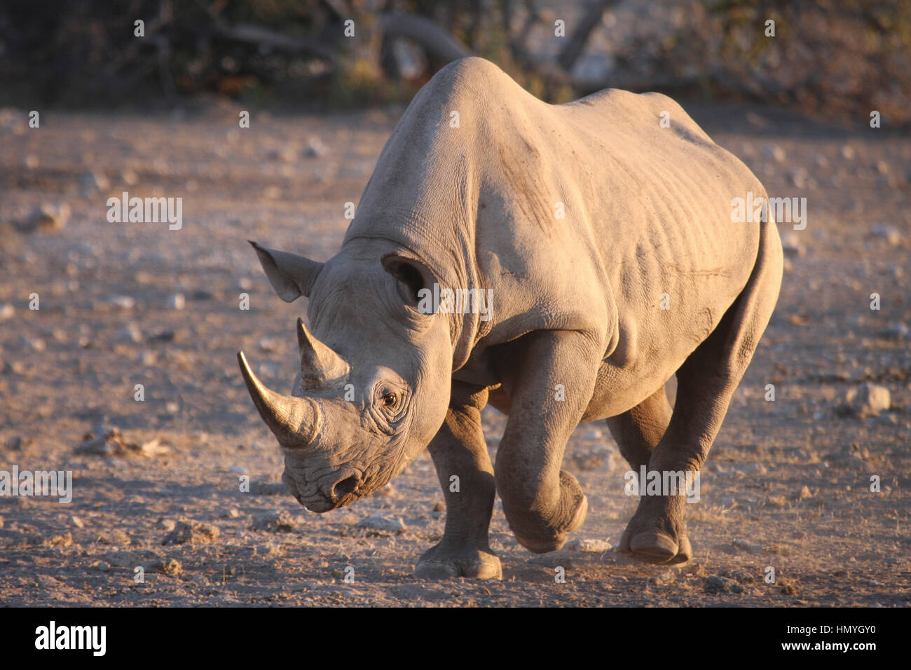
M 487 543 L 496 484 L 481 429 L 480 411 L 486 404 L 485 388 L 453 382 L 443 427 L 429 446 L 446 500 L 446 526 L 443 540 L 417 562 L 415 577 L 503 576 Z

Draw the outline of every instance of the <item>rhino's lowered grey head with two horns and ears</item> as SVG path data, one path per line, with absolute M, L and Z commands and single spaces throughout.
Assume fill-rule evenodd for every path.
M 416 258 L 339 254 L 323 264 L 251 244 L 282 300 L 310 298 L 312 332 L 299 318 L 291 396 L 265 387 L 242 352 L 241 373 L 284 452 L 285 485 L 307 509 L 333 510 L 384 487 L 442 425 L 449 326 L 416 309 L 434 281 Z

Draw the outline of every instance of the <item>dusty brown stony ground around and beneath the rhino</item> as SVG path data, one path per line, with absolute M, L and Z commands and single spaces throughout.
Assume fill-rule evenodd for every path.
M 0 603 L 906 606 L 911 356 L 906 339 L 878 334 L 911 324 L 911 139 L 863 119 L 852 134 L 763 108 L 684 107 L 772 195 L 809 207 L 806 230 L 787 240 L 778 310 L 711 451 L 701 502 L 688 506 L 695 559 L 668 569 L 609 549 L 536 556 L 497 503 L 502 582 L 412 578 L 444 527 L 426 453 L 382 494 L 322 516 L 261 486 L 278 480 L 281 457 L 234 354 L 245 349 L 267 384 L 290 387 L 305 305 L 281 303 L 246 240 L 334 253 L 344 202 L 358 201 L 400 108 L 254 113 L 251 129 L 218 105 L 186 118 L 47 112 L 40 129 L 4 110 L 0 469 L 71 469 L 75 491 L 70 504 L 0 499 Z M 314 139 L 324 151 L 307 156 Z M 182 197 L 183 228 L 108 223 L 107 196 L 120 191 Z M 15 232 L 44 202 L 69 205 L 66 225 Z M 895 231 L 876 234 L 877 224 Z M 863 381 L 888 387 L 892 409 L 840 416 L 844 393 Z M 169 452 L 77 454 L 99 415 L 128 441 L 159 438 Z M 485 417 L 495 452 L 504 417 Z M 627 468 L 603 423 L 578 428 L 564 468 L 589 495 L 572 539 L 615 545 L 636 500 L 623 493 Z M 241 492 L 242 474 L 254 492 Z M 283 531 L 252 530 L 271 512 L 283 513 Z M 404 529 L 355 527 L 374 513 Z M 181 519 L 203 525 L 163 545 Z M 767 566 L 774 583 L 763 581 Z

